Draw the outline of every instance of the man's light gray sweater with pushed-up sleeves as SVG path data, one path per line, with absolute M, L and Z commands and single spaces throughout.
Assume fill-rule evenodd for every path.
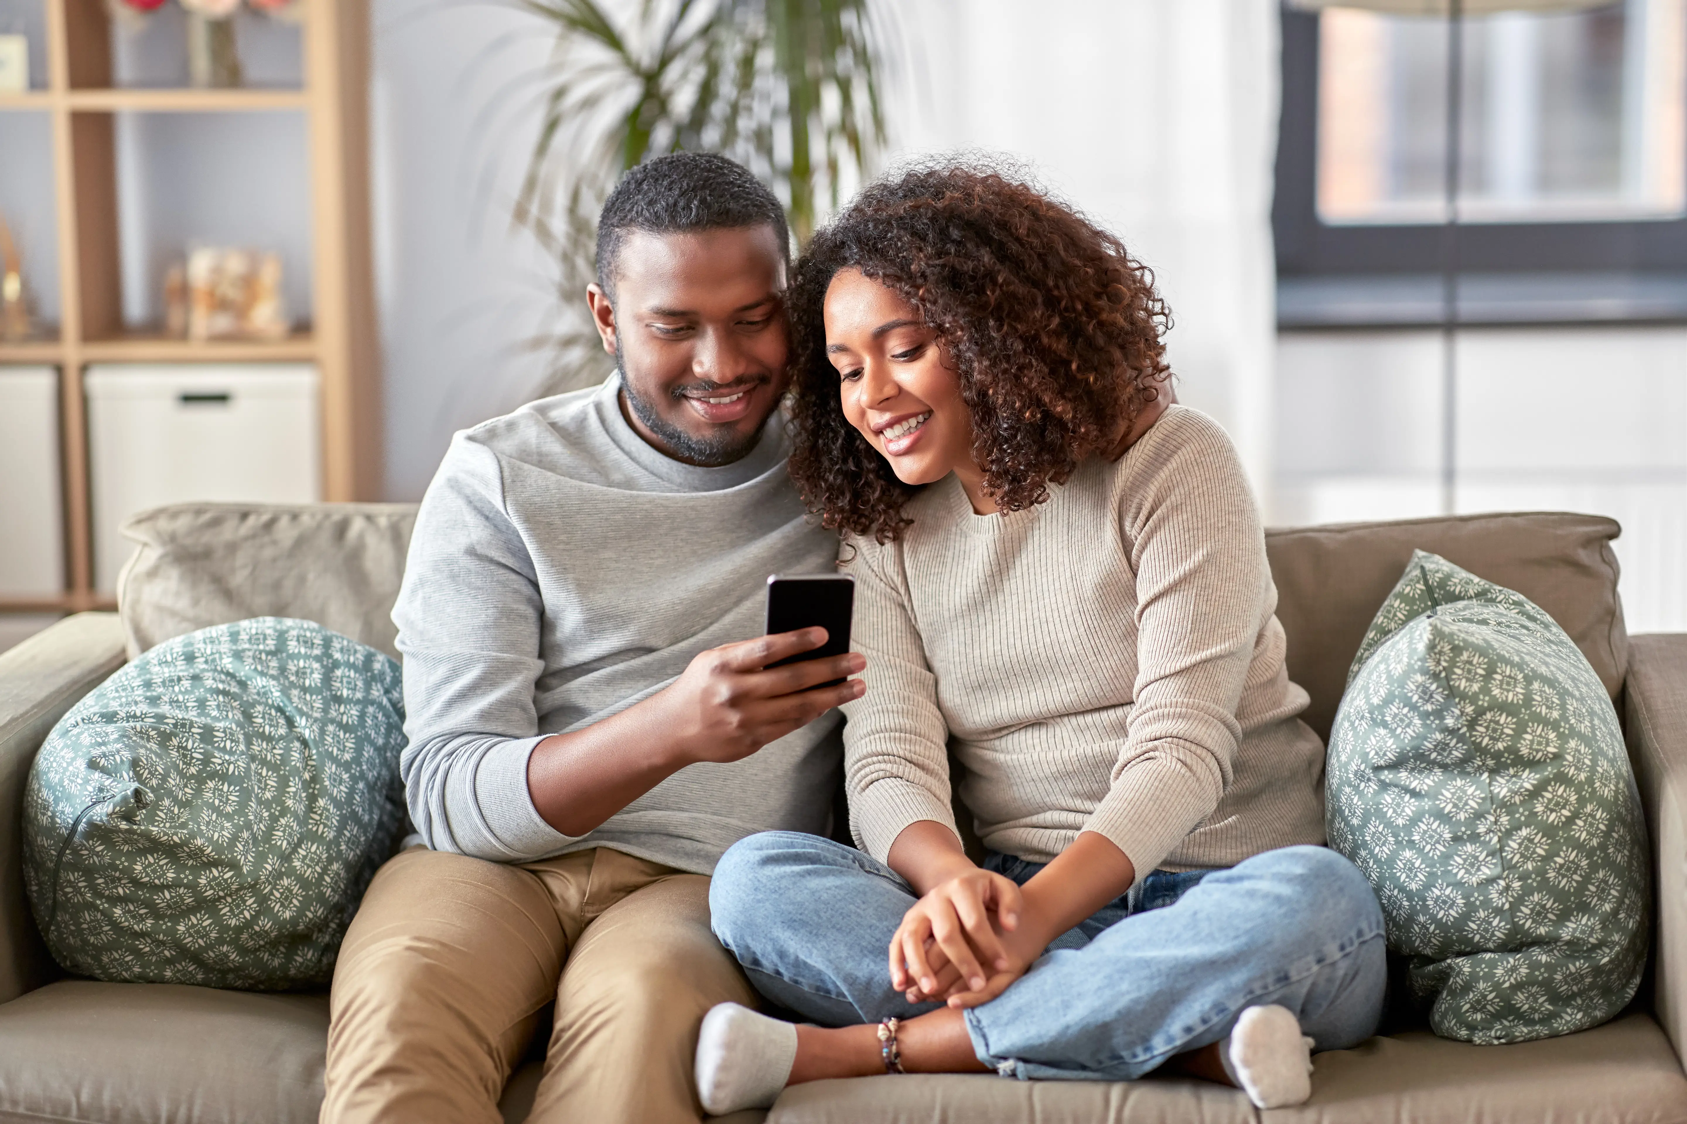
M 695 468 L 626 423 L 619 381 L 457 433 L 417 516 L 393 608 L 402 758 L 423 841 L 494 861 L 609 846 L 709 873 L 756 831 L 823 832 L 837 711 L 730 765 L 688 765 L 596 831 L 540 819 L 526 763 L 671 682 L 698 652 L 761 635 L 771 573 L 832 571 L 803 516 L 783 420 L 744 460 Z

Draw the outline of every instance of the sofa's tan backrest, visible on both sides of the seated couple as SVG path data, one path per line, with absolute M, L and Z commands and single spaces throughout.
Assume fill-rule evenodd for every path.
M 140 551 L 118 602 L 130 657 L 194 629 L 304 617 L 395 656 L 393 600 L 413 504 L 181 504 L 135 516 Z M 1348 664 L 1420 548 L 1517 590 L 1552 613 L 1614 699 L 1628 671 L 1616 595 L 1616 521 L 1562 512 L 1353 522 L 1265 533 L 1289 676 L 1304 718 L 1329 736 Z

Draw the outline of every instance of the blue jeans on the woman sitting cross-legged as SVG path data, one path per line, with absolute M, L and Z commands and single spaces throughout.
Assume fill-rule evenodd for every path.
M 985 866 L 1021 885 L 1043 870 L 1005 854 Z M 884 863 L 795 831 L 734 844 L 709 890 L 715 935 L 757 991 L 828 1026 L 938 1008 L 891 988 L 891 935 L 913 903 Z M 1002 1075 L 1132 1080 L 1269 1003 L 1319 1050 L 1356 1045 L 1377 1030 L 1385 977 L 1370 883 L 1334 851 L 1297 846 L 1151 873 L 965 1020 Z

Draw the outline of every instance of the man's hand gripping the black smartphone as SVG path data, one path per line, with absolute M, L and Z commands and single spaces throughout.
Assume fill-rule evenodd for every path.
M 859 699 L 865 684 L 847 679 L 867 666 L 859 652 L 771 667 L 825 644 L 825 629 L 798 629 L 698 652 L 656 696 L 687 755 L 698 762 L 742 760 L 833 706 Z

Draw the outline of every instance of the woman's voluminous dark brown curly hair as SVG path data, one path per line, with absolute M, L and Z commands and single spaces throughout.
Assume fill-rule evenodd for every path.
M 844 418 L 822 318 L 840 270 L 896 290 L 936 330 L 1002 511 L 1041 504 L 1105 453 L 1171 374 L 1154 275 L 1071 207 L 987 163 L 879 180 L 815 234 L 791 285 L 791 477 L 833 529 L 901 538 L 919 490 Z

